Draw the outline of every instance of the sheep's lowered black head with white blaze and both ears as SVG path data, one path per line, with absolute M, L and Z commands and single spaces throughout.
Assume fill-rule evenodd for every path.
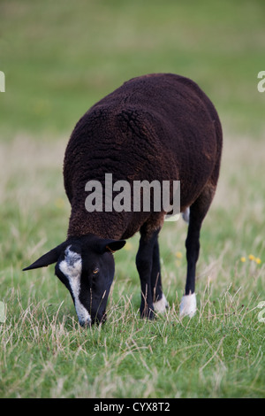
M 71 293 L 80 325 L 91 325 L 106 319 L 115 271 L 112 253 L 124 245 L 125 240 L 96 235 L 71 237 L 23 270 L 57 263 L 55 273 Z

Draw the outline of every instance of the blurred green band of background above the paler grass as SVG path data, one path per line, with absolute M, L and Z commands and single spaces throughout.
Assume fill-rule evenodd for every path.
M 263 0 L 1 0 L 0 138 L 70 135 L 96 100 L 144 73 L 197 81 L 223 126 L 264 135 Z

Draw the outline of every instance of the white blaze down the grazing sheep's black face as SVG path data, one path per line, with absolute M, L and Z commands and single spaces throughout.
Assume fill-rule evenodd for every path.
M 68 279 L 72 289 L 72 297 L 74 299 L 75 310 L 77 312 L 79 322 L 82 324 L 89 324 L 91 321 L 87 309 L 79 301 L 81 273 L 82 273 L 82 258 L 79 253 L 70 250 L 69 245 L 65 250 L 65 258 L 60 262 L 59 268 L 64 276 Z

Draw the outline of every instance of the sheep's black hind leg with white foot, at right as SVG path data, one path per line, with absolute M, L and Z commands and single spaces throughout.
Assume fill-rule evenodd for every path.
M 208 212 L 215 195 L 215 189 L 213 185 L 205 187 L 201 196 L 190 207 L 189 227 L 186 237 L 186 289 L 180 303 L 180 316 L 187 315 L 192 318 L 196 312 L 195 272 L 200 252 L 201 223 Z

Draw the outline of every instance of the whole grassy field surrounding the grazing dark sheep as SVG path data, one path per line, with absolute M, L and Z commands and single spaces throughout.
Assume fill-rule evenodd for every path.
M 265 397 L 263 16 L 258 0 L 1 2 L 0 397 Z M 152 72 L 193 78 L 223 121 L 198 312 L 178 316 L 179 220 L 160 236 L 168 312 L 140 320 L 135 235 L 115 254 L 107 323 L 84 329 L 53 266 L 21 269 L 65 239 L 62 163 L 72 127 L 95 100 Z

